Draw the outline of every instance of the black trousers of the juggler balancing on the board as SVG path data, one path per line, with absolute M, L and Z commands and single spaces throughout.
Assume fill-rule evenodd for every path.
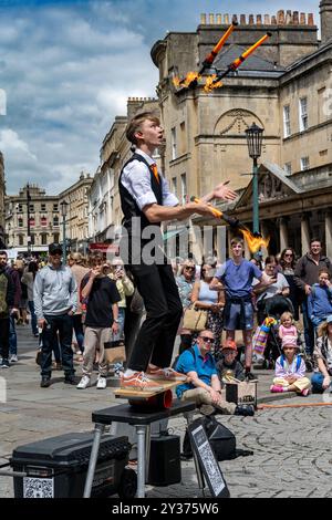
M 143 298 L 146 320 L 138 332 L 128 368 L 145 372 L 148 363 L 162 368 L 172 363 L 174 342 L 183 315 L 172 267 L 128 266 Z

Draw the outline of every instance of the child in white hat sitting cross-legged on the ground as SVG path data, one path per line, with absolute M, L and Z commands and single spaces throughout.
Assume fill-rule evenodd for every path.
M 276 378 L 270 387 L 276 392 L 297 392 L 307 396 L 310 388 L 310 379 L 305 377 L 305 364 L 302 357 L 297 353 L 297 337 L 283 336 L 282 351 L 276 362 Z

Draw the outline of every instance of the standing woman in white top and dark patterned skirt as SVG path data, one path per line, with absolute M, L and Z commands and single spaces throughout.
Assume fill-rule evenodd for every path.
M 222 310 L 225 306 L 224 291 L 211 291 L 210 283 L 216 272 L 216 263 L 204 263 L 200 269 L 200 280 L 194 284 L 191 303 L 196 309 L 208 311 L 207 327 L 212 331 L 214 353 L 217 355 L 222 333 Z

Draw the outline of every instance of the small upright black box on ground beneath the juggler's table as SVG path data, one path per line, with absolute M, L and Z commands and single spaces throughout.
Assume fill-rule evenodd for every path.
M 180 437 L 178 435 L 152 436 L 147 483 L 163 487 L 180 481 Z

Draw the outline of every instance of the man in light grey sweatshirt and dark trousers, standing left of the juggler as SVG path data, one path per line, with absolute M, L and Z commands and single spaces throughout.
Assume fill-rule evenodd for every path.
M 51 384 L 52 345 L 59 332 L 64 383 L 74 385 L 72 351 L 73 315 L 77 309 L 77 284 L 68 266 L 61 262 L 60 243 L 49 246 L 49 264 L 35 275 L 33 301 L 38 326 L 42 329 L 41 387 Z

